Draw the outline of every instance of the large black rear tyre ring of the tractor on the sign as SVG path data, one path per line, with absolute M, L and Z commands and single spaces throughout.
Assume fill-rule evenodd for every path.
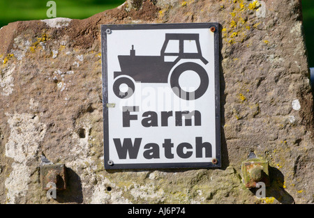
M 195 89 L 195 91 L 184 91 L 179 84 L 179 77 L 183 72 L 191 70 L 197 73 L 200 77 L 200 86 Z M 175 68 L 170 77 L 170 86 L 172 91 L 181 99 L 184 100 L 196 100 L 197 98 L 202 97 L 207 91 L 209 85 L 209 78 L 207 72 L 201 65 L 193 62 L 181 63 L 177 68 Z

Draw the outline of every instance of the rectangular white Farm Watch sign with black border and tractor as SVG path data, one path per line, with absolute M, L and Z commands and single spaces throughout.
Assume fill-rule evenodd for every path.
M 220 167 L 218 24 L 101 33 L 105 169 Z

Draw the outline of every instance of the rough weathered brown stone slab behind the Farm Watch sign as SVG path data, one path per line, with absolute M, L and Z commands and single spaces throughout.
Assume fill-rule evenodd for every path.
M 262 3 L 262 2 L 260 2 Z M 128 0 L 0 31 L 0 203 L 313 203 L 313 96 L 298 0 Z M 257 16 L 259 15 L 259 16 Z M 105 171 L 100 24 L 219 22 L 221 169 Z M 271 186 L 241 182 L 254 150 Z M 40 155 L 68 166 L 48 199 Z

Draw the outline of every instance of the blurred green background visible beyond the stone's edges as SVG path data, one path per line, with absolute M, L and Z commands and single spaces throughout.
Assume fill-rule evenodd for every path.
M 47 1 L 49 0 L 0 0 L 0 27 L 17 20 L 47 19 Z M 57 17 L 84 19 L 104 10 L 116 8 L 125 0 L 54 1 L 57 4 Z M 302 9 L 309 65 L 314 67 L 314 0 L 302 0 Z

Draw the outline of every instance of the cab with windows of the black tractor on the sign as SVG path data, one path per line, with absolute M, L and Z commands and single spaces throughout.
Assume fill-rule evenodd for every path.
M 165 62 L 174 64 L 181 59 L 200 59 L 204 64 L 208 63 L 202 56 L 199 34 L 195 33 L 166 33 L 160 56 Z

